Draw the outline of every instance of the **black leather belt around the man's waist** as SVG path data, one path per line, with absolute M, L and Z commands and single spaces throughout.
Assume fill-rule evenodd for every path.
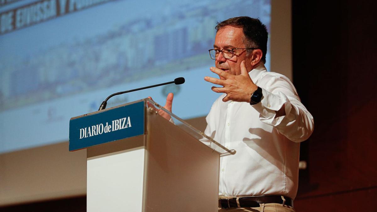
M 285 198 L 285 205 L 293 207 L 293 200 L 289 197 Z M 237 198 L 230 198 L 230 199 L 219 199 L 219 206 L 221 208 L 228 208 L 228 207 L 238 207 Z M 240 207 L 259 207 L 259 204 L 262 203 L 278 203 L 283 204 L 283 200 L 281 196 L 271 195 L 271 196 L 259 196 L 259 197 L 240 197 L 238 199 Z

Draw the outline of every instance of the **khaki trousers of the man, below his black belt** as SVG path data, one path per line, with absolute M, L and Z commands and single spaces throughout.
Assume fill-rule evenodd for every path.
M 278 203 L 262 203 L 259 207 L 230 207 L 222 209 L 219 207 L 219 212 L 233 212 L 233 211 L 250 211 L 250 212 L 296 212 L 293 207 L 283 206 Z

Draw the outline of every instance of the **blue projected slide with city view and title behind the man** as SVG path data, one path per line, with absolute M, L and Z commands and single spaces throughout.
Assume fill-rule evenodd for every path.
M 68 140 L 69 118 L 98 110 L 107 95 L 175 77 L 187 83 L 115 97 L 108 108 L 149 95 L 164 104 L 176 91 L 173 112 L 206 115 L 219 96 L 203 80 L 214 65 L 208 49 L 216 22 L 247 15 L 268 31 L 271 22 L 270 0 L 6 2 L 0 5 L 0 118 L 9 122 L 0 124 L 0 152 Z M 189 111 L 189 100 L 200 104 Z M 14 135 L 13 125 L 27 130 Z

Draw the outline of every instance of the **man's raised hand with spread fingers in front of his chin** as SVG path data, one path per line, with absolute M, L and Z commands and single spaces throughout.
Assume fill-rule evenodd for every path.
M 222 101 L 224 102 L 229 100 L 250 102 L 251 95 L 258 88 L 258 86 L 254 84 L 253 80 L 251 80 L 248 74 L 245 66 L 245 61 L 241 62 L 240 67 L 240 75 L 229 74 L 228 72 L 225 72 L 219 68 L 211 67 L 210 70 L 213 73 L 219 75 L 220 79 L 213 77 L 204 77 L 205 81 L 223 86 L 222 88 L 213 86 L 211 89 L 216 93 L 227 94 L 222 99 Z

